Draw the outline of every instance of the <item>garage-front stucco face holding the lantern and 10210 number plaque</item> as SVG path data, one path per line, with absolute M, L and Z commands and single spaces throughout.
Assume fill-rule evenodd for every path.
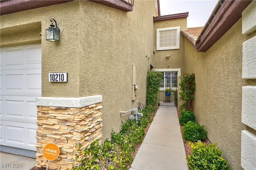
M 1 30 L 4 31 L 4 34 L 1 34 L 1 47 L 6 44 L 32 44 L 34 40 L 37 43 L 38 40 L 42 42 L 43 97 L 79 97 L 78 5 L 78 2 L 74 1 L 1 16 Z M 60 28 L 60 42 L 45 40 L 45 29 L 50 25 L 50 18 L 54 18 Z M 31 31 L 30 26 L 36 29 Z M 11 30 L 16 33 L 12 34 Z M 2 36 L 7 38 L 4 42 Z M 49 82 L 48 73 L 54 72 L 68 73 L 68 82 Z

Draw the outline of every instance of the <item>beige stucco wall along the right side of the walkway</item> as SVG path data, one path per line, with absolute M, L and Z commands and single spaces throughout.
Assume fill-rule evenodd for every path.
M 255 130 L 241 123 L 242 86 L 256 81 L 242 79 L 241 19 L 205 53 L 196 52 L 185 41 L 185 72 L 195 73 L 196 91 L 193 110 L 198 123 L 208 131 L 209 140 L 222 150 L 232 169 L 242 169 L 241 131 Z

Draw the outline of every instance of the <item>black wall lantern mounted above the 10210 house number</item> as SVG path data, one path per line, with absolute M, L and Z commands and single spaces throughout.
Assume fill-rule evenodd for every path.
M 53 21 L 55 22 L 56 27 L 54 26 Z M 52 22 L 50 27 L 45 30 L 46 40 L 50 42 L 58 42 L 60 40 L 60 29 L 57 26 L 57 22 L 53 18 L 50 19 L 50 22 Z

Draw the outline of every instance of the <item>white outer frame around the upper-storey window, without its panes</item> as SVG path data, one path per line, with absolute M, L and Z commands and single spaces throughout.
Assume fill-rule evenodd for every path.
M 177 46 L 160 47 L 160 31 L 166 31 L 166 30 L 177 30 Z M 168 49 L 180 49 L 180 26 L 156 29 L 156 50 L 168 50 Z

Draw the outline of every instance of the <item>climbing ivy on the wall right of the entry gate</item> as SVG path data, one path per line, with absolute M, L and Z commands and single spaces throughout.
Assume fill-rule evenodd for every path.
M 183 104 L 180 109 L 187 109 L 190 111 L 192 109 L 192 100 L 194 100 L 194 91 L 196 90 L 195 74 L 184 73 L 180 76 L 180 101 Z

